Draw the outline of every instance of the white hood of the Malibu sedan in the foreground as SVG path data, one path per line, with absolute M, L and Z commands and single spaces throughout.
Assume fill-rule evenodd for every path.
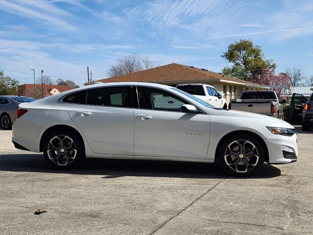
M 262 115 L 262 114 L 254 114 L 243 111 L 235 111 L 235 110 L 224 110 L 224 114 L 228 117 L 236 117 L 236 118 L 249 118 L 258 121 L 264 121 L 266 126 L 273 127 L 284 127 L 284 128 L 294 128 L 291 124 L 286 121 L 283 121 L 278 118 L 273 118 L 270 116 Z

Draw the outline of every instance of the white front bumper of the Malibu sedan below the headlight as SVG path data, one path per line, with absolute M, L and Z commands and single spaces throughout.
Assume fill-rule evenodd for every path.
M 271 133 L 265 141 L 268 145 L 269 164 L 286 164 L 297 161 L 297 134 L 293 134 L 293 136 L 282 136 Z M 283 153 L 282 145 L 289 146 L 294 149 L 293 158 L 291 153 Z

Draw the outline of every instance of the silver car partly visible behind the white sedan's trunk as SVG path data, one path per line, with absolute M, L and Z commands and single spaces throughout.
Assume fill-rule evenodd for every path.
M 16 111 L 20 103 L 28 103 L 36 99 L 17 96 L 17 95 L 1 95 L 0 96 L 0 128 L 10 130 L 12 124 L 16 120 Z

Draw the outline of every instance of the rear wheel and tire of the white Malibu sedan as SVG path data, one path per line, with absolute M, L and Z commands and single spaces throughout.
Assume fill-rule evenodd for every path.
M 70 130 L 57 130 L 44 141 L 45 161 L 58 170 L 74 169 L 85 160 L 83 141 Z

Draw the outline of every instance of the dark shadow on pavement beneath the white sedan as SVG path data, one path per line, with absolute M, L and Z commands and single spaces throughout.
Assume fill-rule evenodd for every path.
M 0 157 L 0 171 L 46 172 L 82 175 L 104 175 L 103 179 L 123 176 L 172 177 L 223 179 L 230 178 L 223 171 L 219 162 L 214 164 L 144 161 L 86 159 L 83 167 L 74 170 L 55 170 L 46 164 L 42 154 L 6 154 Z M 263 164 L 260 171 L 249 178 L 273 178 L 280 176 L 279 168 Z

